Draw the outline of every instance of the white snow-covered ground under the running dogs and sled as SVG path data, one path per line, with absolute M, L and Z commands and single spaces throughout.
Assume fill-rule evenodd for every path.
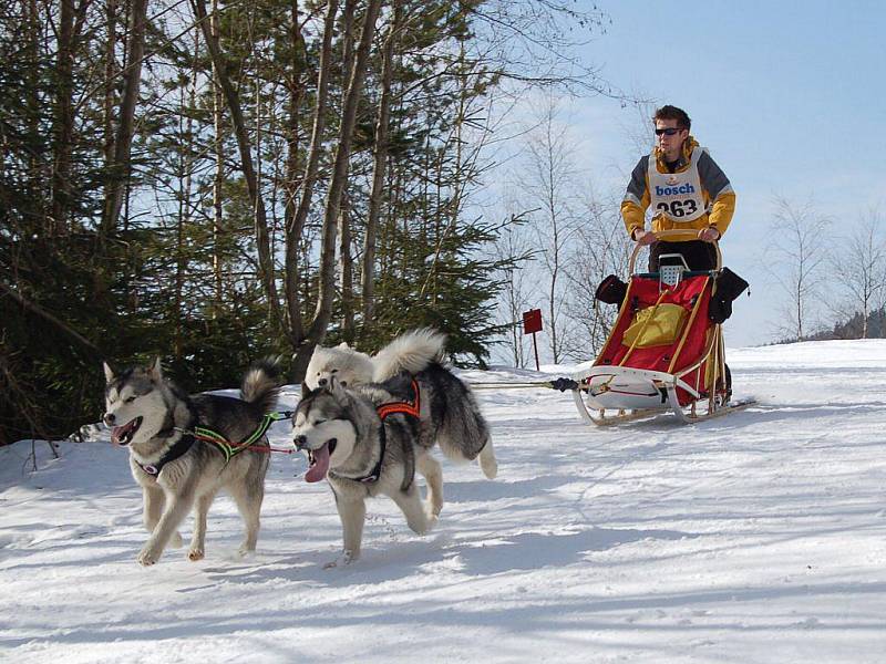
M 370 501 L 363 557 L 331 570 L 333 499 L 299 456 L 272 459 L 254 557 L 236 556 L 219 497 L 204 560 L 167 550 L 142 568 L 141 495 L 106 432 L 58 459 L 37 443 L 38 471 L 31 442 L 0 448 L 0 658 L 882 662 L 886 342 L 727 357 L 735 396 L 760 405 L 693 426 L 594 428 L 568 393 L 477 391 L 498 478 L 444 461 L 424 537 Z M 287 444 L 286 423 L 271 434 Z

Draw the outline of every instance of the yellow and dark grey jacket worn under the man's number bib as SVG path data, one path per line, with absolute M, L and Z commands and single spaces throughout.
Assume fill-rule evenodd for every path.
M 689 136 L 683 144 L 683 154 L 680 157 L 676 173 L 689 168 L 692 151 L 696 148 L 699 148 L 698 142 L 692 136 Z M 652 154 L 656 157 L 658 172 L 668 173 L 668 166 L 664 164 L 664 155 L 661 148 L 656 146 Z M 633 237 L 635 230 L 642 229 L 646 226 L 646 209 L 650 203 L 649 178 L 647 177 L 649 158 L 650 155 L 646 155 L 635 167 L 630 183 L 628 183 L 628 189 L 625 193 L 625 199 L 621 201 L 621 218 L 625 220 L 625 228 L 628 229 L 628 235 L 631 237 Z M 658 215 L 652 218 L 652 230 L 670 230 L 672 228 L 701 230 L 713 227 L 721 236 L 725 234 L 735 211 L 735 193 L 732 190 L 732 185 L 729 184 L 727 176 L 707 153 L 699 158 L 699 177 L 703 189 L 704 203 L 710 206 L 709 214 L 702 215 L 693 221 L 683 222 L 676 222 Z M 710 205 L 711 200 L 713 200 L 713 205 Z

